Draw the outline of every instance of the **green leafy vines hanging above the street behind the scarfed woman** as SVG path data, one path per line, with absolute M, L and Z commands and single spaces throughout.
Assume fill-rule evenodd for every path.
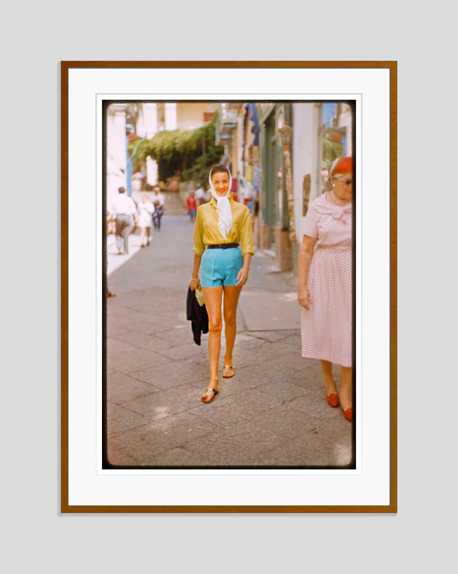
M 165 180 L 181 171 L 183 179 L 194 180 L 201 185 L 208 180 L 208 169 L 216 164 L 224 148 L 215 145 L 215 121 L 192 131 L 158 131 L 137 148 L 135 165 L 144 164 L 147 156 L 158 162 L 159 179 Z M 129 144 L 129 153 L 136 142 Z

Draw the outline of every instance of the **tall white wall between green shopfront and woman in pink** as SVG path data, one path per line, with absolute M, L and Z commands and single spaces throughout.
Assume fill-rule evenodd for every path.
M 309 204 L 318 196 L 319 118 L 321 106 L 314 103 L 292 104 L 292 185 L 297 243 L 304 234 L 303 181 L 310 174 Z

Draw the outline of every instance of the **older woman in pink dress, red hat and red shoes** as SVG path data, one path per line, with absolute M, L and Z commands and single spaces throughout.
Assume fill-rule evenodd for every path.
M 352 419 L 351 397 L 351 157 L 334 160 L 332 191 L 313 201 L 304 223 L 297 266 L 302 307 L 302 356 L 320 359 L 328 405 Z M 341 369 L 340 397 L 332 363 Z

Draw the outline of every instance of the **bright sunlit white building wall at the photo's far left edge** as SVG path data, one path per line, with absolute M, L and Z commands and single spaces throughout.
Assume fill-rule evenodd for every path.
M 109 209 L 119 187 L 126 187 L 126 114 L 107 111 L 107 208 Z M 123 171 L 122 171 L 123 170 Z

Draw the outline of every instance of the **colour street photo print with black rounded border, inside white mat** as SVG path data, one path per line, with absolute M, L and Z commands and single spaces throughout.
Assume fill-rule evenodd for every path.
M 355 467 L 354 110 L 104 103 L 106 468 Z

